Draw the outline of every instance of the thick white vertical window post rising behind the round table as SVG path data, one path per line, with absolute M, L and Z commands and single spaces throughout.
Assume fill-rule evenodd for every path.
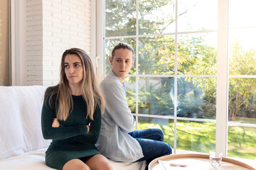
M 218 0 L 216 151 L 227 156 L 228 142 L 228 0 Z

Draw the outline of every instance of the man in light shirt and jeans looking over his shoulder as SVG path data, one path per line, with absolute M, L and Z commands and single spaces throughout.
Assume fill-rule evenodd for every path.
M 105 94 L 105 113 L 97 147 L 117 162 L 151 160 L 171 154 L 171 147 L 163 142 L 159 129 L 134 130 L 134 117 L 128 107 L 124 79 L 134 64 L 134 49 L 119 42 L 110 57 L 112 70 L 100 84 Z M 133 131 L 134 130 L 134 131 Z

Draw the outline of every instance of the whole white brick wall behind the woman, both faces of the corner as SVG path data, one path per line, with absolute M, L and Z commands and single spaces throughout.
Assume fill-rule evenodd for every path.
M 26 1 L 27 84 L 58 84 L 63 52 L 90 54 L 90 0 Z

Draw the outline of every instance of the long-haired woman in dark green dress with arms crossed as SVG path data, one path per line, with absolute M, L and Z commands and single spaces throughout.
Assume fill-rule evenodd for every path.
M 46 164 L 54 169 L 112 169 L 98 152 L 101 113 L 105 101 L 92 62 L 78 48 L 66 50 L 60 64 L 60 82 L 46 90 L 41 125 L 51 139 Z

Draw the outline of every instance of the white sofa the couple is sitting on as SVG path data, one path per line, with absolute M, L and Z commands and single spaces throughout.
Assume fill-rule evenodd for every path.
M 0 86 L 0 169 L 46 170 L 50 140 L 41 132 L 47 86 Z M 141 170 L 146 162 L 112 162 L 114 170 Z

